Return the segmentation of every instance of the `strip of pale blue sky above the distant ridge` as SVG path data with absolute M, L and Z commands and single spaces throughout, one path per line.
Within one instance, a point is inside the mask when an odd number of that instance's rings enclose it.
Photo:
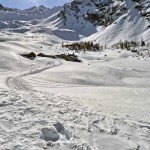
M 61 6 L 70 0 L 0 0 L 0 4 L 9 8 L 26 9 L 32 6 L 44 5 L 52 8 Z

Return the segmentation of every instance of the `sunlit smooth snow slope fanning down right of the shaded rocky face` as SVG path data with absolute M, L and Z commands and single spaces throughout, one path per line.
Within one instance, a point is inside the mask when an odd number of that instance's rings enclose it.
M 150 41 L 150 22 L 136 9 L 134 2 L 125 1 L 128 12 L 119 17 L 115 22 L 104 29 L 100 29 L 96 34 L 88 39 L 95 42 L 115 43 L 119 40 L 136 40 L 144 38 Z

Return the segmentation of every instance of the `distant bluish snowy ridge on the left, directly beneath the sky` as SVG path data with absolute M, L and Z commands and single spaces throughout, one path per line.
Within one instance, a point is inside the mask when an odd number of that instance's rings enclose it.
M 35 26 L 38 25 L 41 20 L 48 18 L 59 12 L 61 7 L 54 7 L 52 9 L 44 6 L 32 7 L 25 10 L 8 9 L 1 6 L 0 9 L 0 29 L 11 30 L 17 33 L 25 33 L 33 31 Z M 40 30 L 39 27 L 38 30 Z

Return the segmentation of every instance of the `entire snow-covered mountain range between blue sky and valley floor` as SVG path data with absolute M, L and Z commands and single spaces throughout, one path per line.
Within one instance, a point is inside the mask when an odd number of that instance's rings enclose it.
M 0 29 L 54 34 L 62 40 L 113 44 L 150 40 L 149 0 L 72 0 L 63 7 L 26 10 L 1 6 Z

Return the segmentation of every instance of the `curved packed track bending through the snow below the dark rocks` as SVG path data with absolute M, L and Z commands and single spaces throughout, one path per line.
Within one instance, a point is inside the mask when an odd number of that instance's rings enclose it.
M 10 89 L 23 90 L 23 91 L 32 90 L 31 86 L 23 79 L 23 77 L 28 75 L 34 75 L 60 65 L 62 65 L 61 61 L 50 61 L 49 63 L 47 63 L 45 67 L 38 68 L 35 70 L 30 70 L 16 77 L 7 77 L 5 84 Z

